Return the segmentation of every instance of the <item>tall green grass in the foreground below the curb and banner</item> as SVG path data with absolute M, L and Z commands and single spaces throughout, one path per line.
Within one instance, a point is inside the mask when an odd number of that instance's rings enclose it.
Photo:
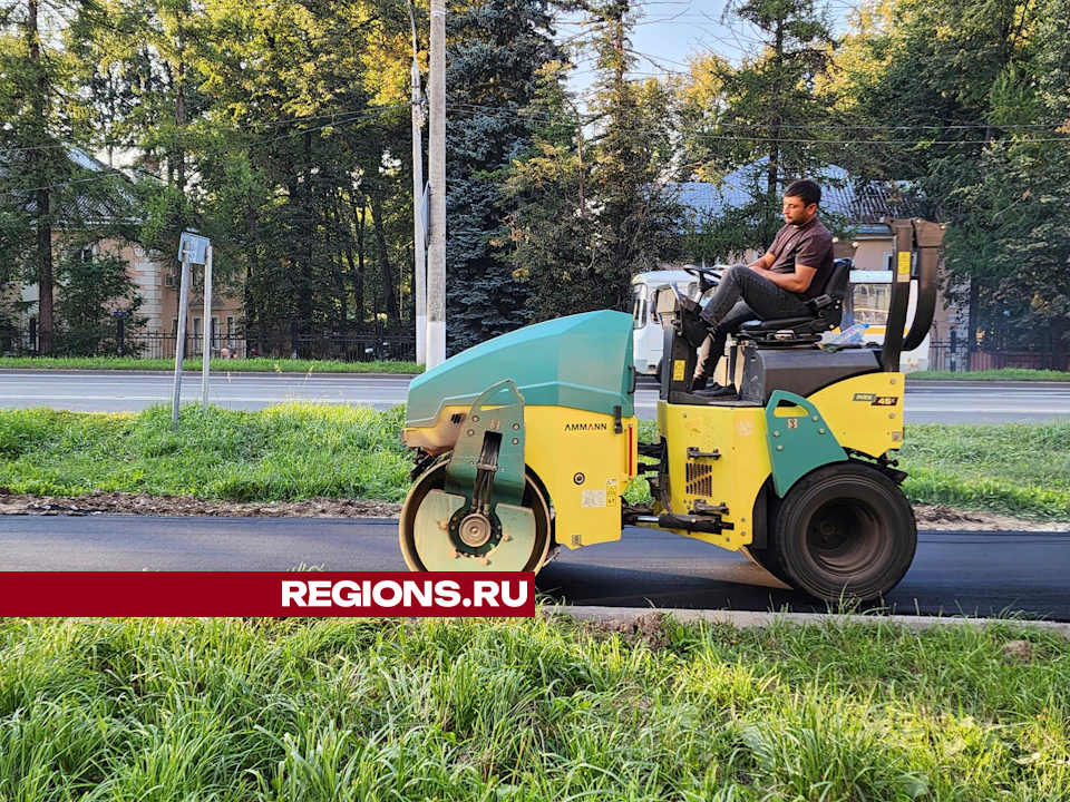
M 1056 635 L 642 628 L 0 619 L 0 800 L 1070 798 Z

